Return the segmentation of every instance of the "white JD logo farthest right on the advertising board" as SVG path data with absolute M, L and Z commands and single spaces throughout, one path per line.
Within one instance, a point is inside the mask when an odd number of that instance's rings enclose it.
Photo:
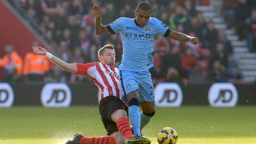
M 209 89 L 208 101 L 212 107 L 235 107 L 238 92 L 233 84 L 215 83 Z

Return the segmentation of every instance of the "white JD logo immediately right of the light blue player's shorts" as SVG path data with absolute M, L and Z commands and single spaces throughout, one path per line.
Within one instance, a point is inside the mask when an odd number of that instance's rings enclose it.
M 177 83 L 159 83 L 155 87 L 155 103 L 157 107 L 179 107 L 183 93 Z

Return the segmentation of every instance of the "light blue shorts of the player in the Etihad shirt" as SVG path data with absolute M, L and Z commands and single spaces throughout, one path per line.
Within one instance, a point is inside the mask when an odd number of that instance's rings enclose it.
M 126 95 L 138 90 L 140 102 L 155 101 L 154 86 L 150 72 L 132 72 L 119 70 L 119 83 L 122 87 L 122 100 L 127 102 Z

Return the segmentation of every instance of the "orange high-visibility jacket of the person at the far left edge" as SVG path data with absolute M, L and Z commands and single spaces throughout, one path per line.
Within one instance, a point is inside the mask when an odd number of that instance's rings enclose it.
M 23 60 L 18 55 L 18 53 L 16 51 L 13 51 L 11 56 L 4 55 L 3 59 L 0 60 L 0 67 L 6 67 L 6 66 L 10 66 L 10 65 L 15 65 L 15 67 L 17 69 L 17 74 L 18 75 L 22 74 L 22 64 L 23 64 Z

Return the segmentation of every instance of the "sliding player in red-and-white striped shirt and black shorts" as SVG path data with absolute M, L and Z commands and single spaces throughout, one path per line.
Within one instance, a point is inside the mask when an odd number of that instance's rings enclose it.
M 64 70 L 75 74 L 89 75 L 101 92 L 99 102 L 99 112 L 102 122 L 109 136 L 84 137 L 81 133 L 76 133 L 67 144 L 124 144 L 126 139 L 132 138 L 130 144 L 150 144 L 147 138 L 133 138 L 128 119 L 128 107 L 120 99 L 122 95 L 119 86 L 118 68 L 115 68 L 115 51 L 111 44 L 99 49 L 99 62 L 95 63 L 66 63 L 53 56 L 46 49 L 33 46 L 33 52 L 38 55 L 45 55 Z

